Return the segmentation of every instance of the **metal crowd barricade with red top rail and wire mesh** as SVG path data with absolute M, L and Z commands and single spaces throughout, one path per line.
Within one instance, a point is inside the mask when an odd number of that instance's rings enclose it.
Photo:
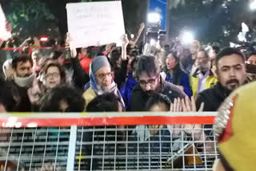
M 214 117 L 2 113 L 0 170 L 212 170 Z

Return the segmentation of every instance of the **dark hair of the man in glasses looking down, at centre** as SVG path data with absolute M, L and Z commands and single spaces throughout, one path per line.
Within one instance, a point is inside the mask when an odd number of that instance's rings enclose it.
M 142 56 L 138 59 L 136 75 L 139 76 L 142 72 L 146 72 L 149 76 L 160 74 L 160 66 L 154 56 Z

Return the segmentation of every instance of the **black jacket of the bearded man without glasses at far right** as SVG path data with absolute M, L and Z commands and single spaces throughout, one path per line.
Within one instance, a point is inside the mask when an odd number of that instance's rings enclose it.
M 200 108 L 202 102 L 205 103 L 203 111 L 215 112 L 218 110 L 222 102 L 230 95 L 230 92 L 218 82 L 210 89 L 205 89 L 198 94 L 196 99 L 197 109 Z

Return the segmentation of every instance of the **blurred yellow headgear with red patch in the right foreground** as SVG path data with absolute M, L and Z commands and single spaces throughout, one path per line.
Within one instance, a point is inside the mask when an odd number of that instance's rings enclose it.
M 218 110 L 214 132 L 220 159 L 214 171 L 254 170 L 256 121 L 256 83 L 242 86 L 230 94 Z

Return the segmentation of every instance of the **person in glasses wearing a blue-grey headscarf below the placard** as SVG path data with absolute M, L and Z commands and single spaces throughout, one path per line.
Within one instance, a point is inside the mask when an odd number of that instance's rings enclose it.
M 122 109 L 126 107 L 122 100 L 121 93 L 118 90 L 118 85 L 114 82 L 113 72 L 111 71 L 110 62 L 105 56 L 98 56 L 90 63 L 90 87 L 83 93 L 86 100 L 86 106 L 90 101 L 102 95 L 103 93 L 114 93 L 120 97 L 122 101 Z

